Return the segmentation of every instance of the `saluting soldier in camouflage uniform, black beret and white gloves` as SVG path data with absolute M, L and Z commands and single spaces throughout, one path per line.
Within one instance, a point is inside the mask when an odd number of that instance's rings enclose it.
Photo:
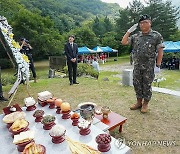
M 137 103 L 130 109 L 141 108 L 141 112 L 146 113 L 152 96 L 151 84 L 154 80 L 154 68 L 160 71 L 164 46 L 161 34 L 151 29 L 151 19 L 148 15 L 140 17 L 139 26 L 141 31 L 129 37 L 137 26 L 138 24 L 133 25 L 126 32 L 121 43 L 133 47 L 133 85 Z M 133 43 L 131 44 L 131 42 Z

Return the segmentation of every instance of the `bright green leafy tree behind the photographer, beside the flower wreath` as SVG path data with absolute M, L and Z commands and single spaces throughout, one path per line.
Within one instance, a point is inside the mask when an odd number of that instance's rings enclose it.
M 43 58 L 63 52 L 63 38 L 54 29 L 54 23 L 49 17 L 41 17 L 23 8 L 12 20 L 16 40 L 27 38 L 34 48 L 34 57 Z

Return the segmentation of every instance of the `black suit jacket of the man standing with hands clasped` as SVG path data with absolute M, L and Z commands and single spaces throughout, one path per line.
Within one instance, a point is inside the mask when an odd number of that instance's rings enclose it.
M 76 43 L 73 43 L 73 49 L 69 42 L 67 42 L 64 46 L 64 51 L 67 57 L 67 61 L 71 61 L 72 58 L 78 58 L 78 46 Z

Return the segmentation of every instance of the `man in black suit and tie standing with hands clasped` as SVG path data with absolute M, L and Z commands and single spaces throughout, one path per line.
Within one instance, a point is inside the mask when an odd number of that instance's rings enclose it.
M 67 57 L 70 85 L 79 84 L 76 81 L 78 46 L 74 43 L 74 39 L 74 35 L 69 36 L 69 41 L 64 46 L 64 51 Z

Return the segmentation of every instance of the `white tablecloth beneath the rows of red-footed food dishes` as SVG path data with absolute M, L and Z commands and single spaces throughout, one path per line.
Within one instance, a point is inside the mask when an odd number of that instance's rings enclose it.
M 23 108 L 25 109 L 25 108 Z M 91 125 L 91 133 L 86 136 L 81 136 L 79 134 L 79 129 L 76 126 L 72 126 L 71 119 L 64 120 L 61 118 L 61 114 L 56 114 L 56 109 L 49 109 L 48 106 L 41 107 L 37 105 L 37 109 L 42 109 L 45 111 L 45 115 L 51 114 L 56 116 L 56 124 L 61 124 L 66 128 L 66 135 L 73 140 L 88 144 L 89 146 L 97 149 L 97 143 L 95 142 L 95 138 L 98 134 L 104 133 L 102 130 L 97 128 L 95 125 Z M 42 144 L 46 147 L 46 154 L 71 154 L 71 151 L 68 147 L 67 141 L 64 141 L 60 144 L 54 144 L 51 141 L 51 137 L 49 136 L 49 130 L 44 130 L 43 125 L 41 123 L 36 123 L 35 118 L 32 116 L 34 111 L 25 111 L 26 119 L 29 121 L 30 130 L 34 130 L 35 132 L 35 142 L 37 144 Z M 17 146 L 14 145 L 13 138 L 11 137 L 11 133 L 8 131 L 6 124 L 2 122 L 2 118 L 4 115 L 0 115 L 0 154 L 19 154 L 17 150 Z M 107 154 L 129 154 L 130 148 L 125 146 L 121 149 L 118 149 L 114 144 L 115 138 L 112 137 L 111 149 L 106 152 Z

